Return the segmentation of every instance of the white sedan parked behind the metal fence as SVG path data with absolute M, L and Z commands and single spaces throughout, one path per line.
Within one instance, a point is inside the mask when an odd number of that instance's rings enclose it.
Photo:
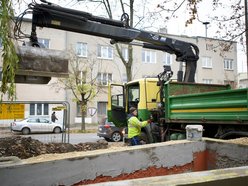
M 45 118 L 26 118 L 14 121 L 10 127 L 12 131 L 22 132 L 24 135 L 43 132 L 61 133 L 63 130 L 62 124 L 51 122 Z

